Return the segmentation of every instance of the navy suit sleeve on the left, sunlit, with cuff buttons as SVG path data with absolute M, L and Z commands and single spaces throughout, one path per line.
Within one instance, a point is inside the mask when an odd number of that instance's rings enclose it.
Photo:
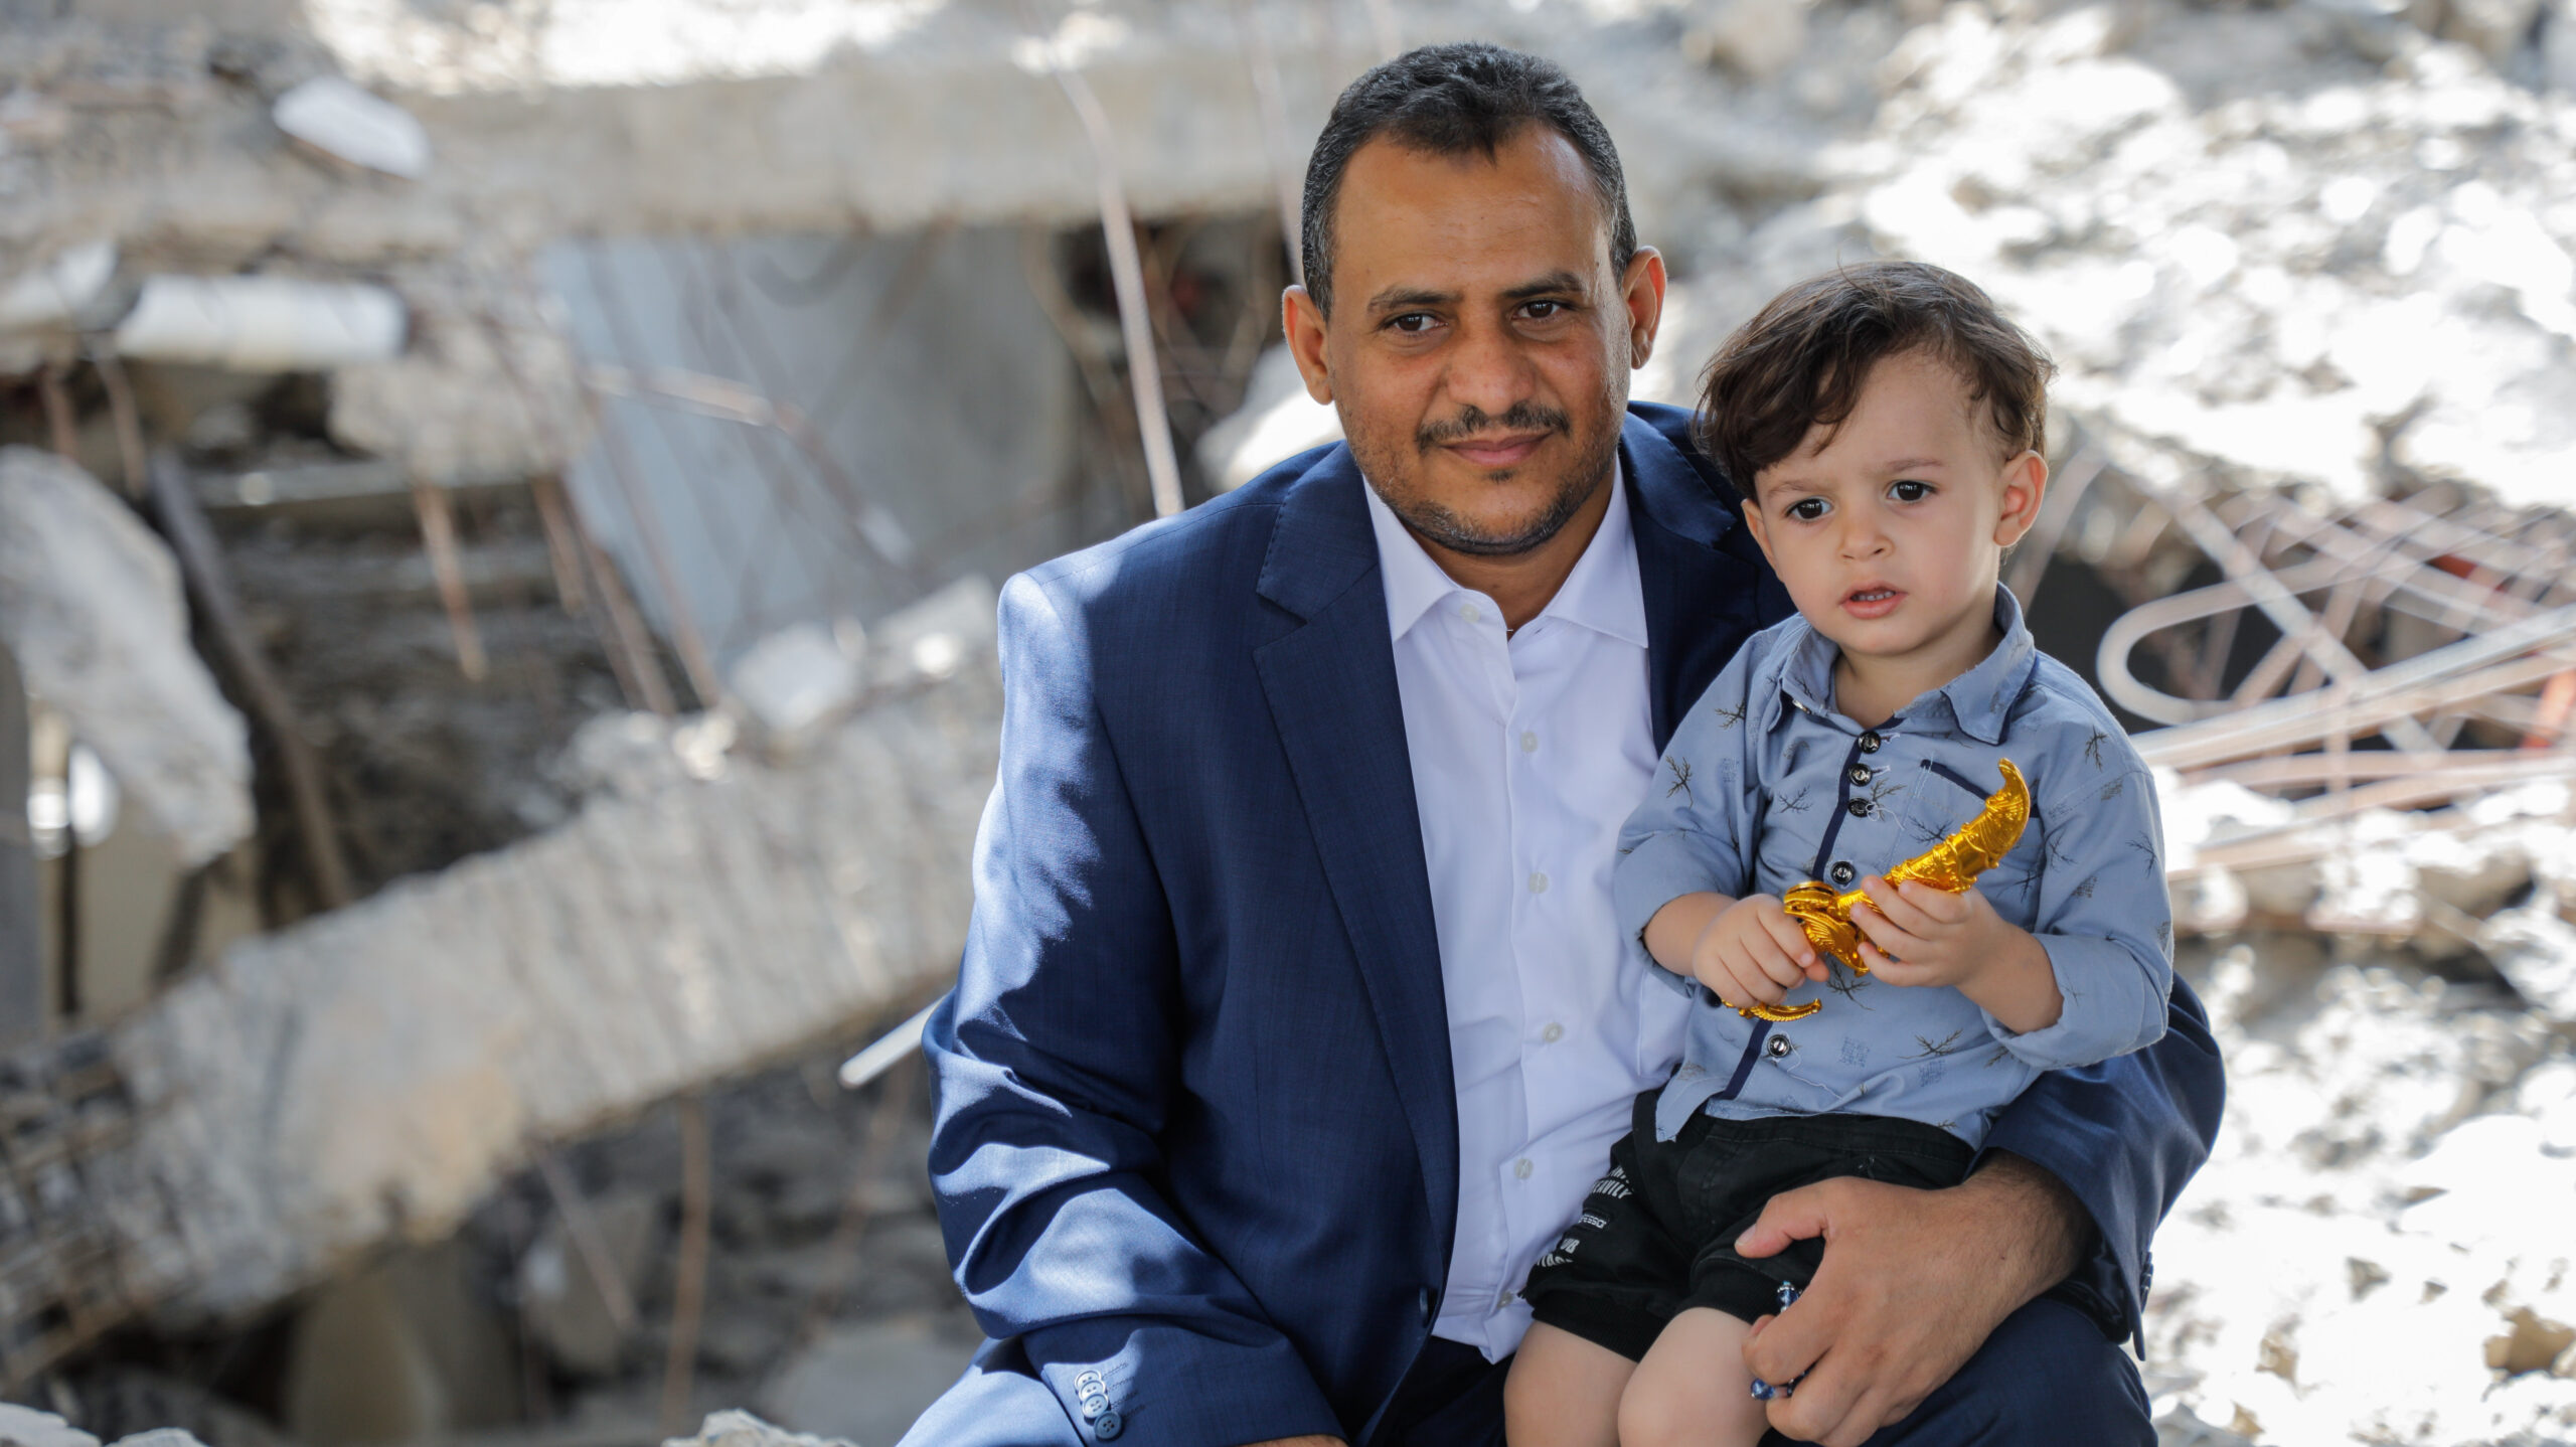
M 1180 1069 L 1177 945 L 1079 621 L 1012 579 L 999 657 L 974 919 L 922 1035 L 958 1287 L 1084 1442 L 1342 1434 L 1291 1341 L 1154 1187 Z

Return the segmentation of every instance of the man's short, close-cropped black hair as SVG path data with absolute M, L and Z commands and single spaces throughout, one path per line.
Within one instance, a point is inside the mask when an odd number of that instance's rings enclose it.
M 1352 80 L 1332 103 L 1332 118 L 1306 162 L 1306 294 L 1316 312 L 1332 314 L 1332 206 L 1342 196 L 1342 173 L 1363 144 L 1388 136 L 1409 149 L 1455 157 L 1481 152 L 1486 160 L 1528 124 L 1543 124 L 1592 170 L 1602 216 L 1610 221 L 1610 270 L 1628 275 L 1636 257 L 1636 221 L 1628 219 L 1628 180 L 1618 170 L 1618 147 L 1592 113 L 1584 93 L 1556 62 L 1507 51 L 1484 41 L 1419 46 Z

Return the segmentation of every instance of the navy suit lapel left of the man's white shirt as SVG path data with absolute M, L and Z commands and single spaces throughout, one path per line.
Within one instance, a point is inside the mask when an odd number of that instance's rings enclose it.
M 1260 592 L 1303 626 L 1255 649 L 1324 881 L 1360 960 L 1432 1208 L 1435 1269 L 1458 1218 L 1458 1092 L 1386 587 L 1347 448 L 1280 505 Z

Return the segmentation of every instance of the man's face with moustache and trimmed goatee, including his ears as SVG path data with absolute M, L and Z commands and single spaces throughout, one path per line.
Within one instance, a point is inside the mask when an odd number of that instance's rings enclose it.
M 1664 268 L 1610 273 L 1592 173 L 1548 126 L 1494 157 L 1381 136 L 1342 173 L 1332 296 L 1324 319 L 1293 288 L 1288 340 L 1378 497 L 1443 548 L 1515 556 L 1607 481 Z

